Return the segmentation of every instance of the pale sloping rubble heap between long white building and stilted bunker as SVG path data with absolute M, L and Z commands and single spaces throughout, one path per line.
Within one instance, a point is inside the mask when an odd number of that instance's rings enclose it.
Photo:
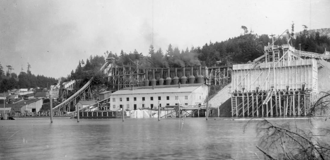
M 222 103 L 224 103 L 227 99 L 231 97 L 229 92 L 232 92 L 231 83 L 223 87 L 218 93 L 215 94 L 214 97 L 209 99 L 210 107 L 219 107 Z

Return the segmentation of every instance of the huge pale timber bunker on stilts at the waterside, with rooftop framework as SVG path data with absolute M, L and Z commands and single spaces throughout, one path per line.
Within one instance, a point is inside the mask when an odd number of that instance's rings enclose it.
M 318 94 L 317 59 L 330 55 L 273 43 L 252 63 L 233 65 L 232 116 L 309 115 Z

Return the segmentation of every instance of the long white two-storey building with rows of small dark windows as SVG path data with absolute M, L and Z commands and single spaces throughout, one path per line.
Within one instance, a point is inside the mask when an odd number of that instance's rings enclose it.
M 203 105 L 208 92 L 209 88 L 204 83 L 124 88 L 110 94 L 110 110 Z

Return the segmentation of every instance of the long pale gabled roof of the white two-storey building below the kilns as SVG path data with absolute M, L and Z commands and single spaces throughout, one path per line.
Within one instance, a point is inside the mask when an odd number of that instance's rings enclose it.
M 206 84 L 204 83 L 181 84 L 180 88 L 179 85 L 156 85 L 154 86 L 154 89 L 152 89 L 152 86 L 142 86 L 142 87 L 133 87 L 133 90 L 131 90 L 130 87 L 127 87 L 118 90 L 112 93 L 111 95 L 192 92 L 202 85 L 206 85 Z

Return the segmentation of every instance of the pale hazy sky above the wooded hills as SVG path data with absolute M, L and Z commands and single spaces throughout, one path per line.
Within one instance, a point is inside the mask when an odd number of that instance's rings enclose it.
M 0 64 L 60 78 L 104 52 L 180 50 L 243 33 L 330 28 L 329 0 L 2 0 Z

